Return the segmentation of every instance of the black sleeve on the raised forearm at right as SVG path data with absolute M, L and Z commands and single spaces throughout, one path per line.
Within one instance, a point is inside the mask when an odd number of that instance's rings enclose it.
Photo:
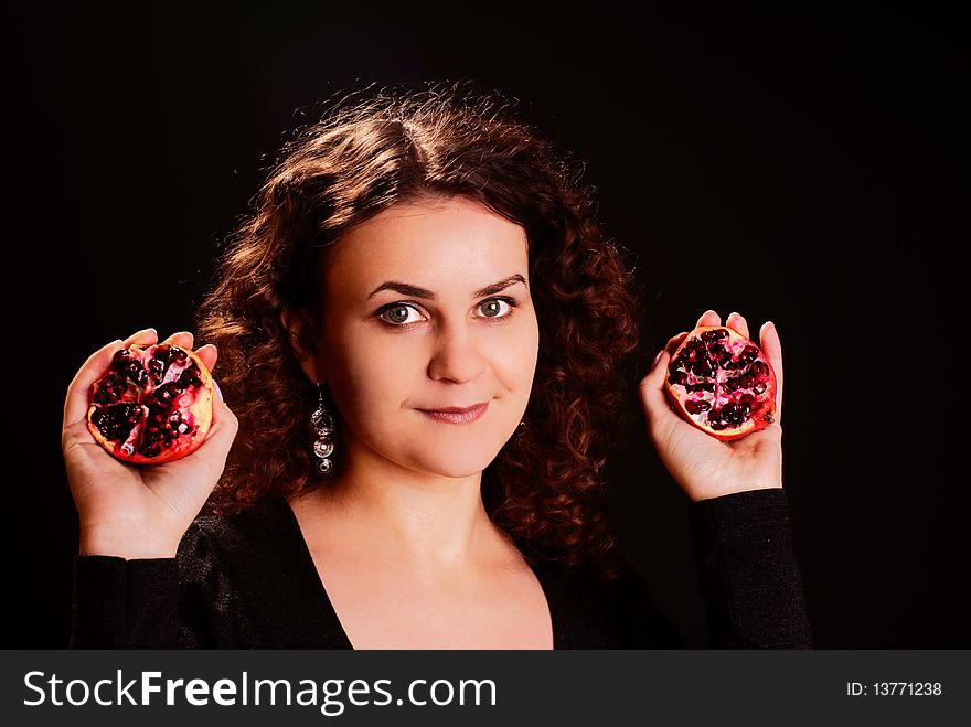
M 689 505 L 713 649 L 812 649 L 782 489 Z

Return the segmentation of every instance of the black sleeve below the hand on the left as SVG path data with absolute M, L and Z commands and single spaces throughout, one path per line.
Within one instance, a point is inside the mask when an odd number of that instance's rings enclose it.
M 232 645 L 227 585 L 193 525 L 174 558 L 74 558 L 71 649 Z

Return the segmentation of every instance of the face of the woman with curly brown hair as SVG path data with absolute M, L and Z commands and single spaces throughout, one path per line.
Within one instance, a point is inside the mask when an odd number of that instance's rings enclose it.
M 536 370 L 527 272 L 524 229 L 463 197 L 393 206 L 332 248 L 312 363 L 349 461 L 467 477 L 495 458 Z

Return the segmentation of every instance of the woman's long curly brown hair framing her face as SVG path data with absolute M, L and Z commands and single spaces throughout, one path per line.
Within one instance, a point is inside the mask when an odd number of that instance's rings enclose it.
M 515 107 L 469 83 L 366 89 L 282 147 L 199 313 L 239 420 L 211 512 L 326 487 L 307 426 L 316 389 L 280 314 L 312 309 L 318 265 L 354 225 L 395 203 L 461 195 L 525 229 L 540 323 L 527 426 L 483 474 L 487 511 L 527 558 L 617 570 L 601 469 L 629 392 L 639 296 L 595 220 L 583 164 Z

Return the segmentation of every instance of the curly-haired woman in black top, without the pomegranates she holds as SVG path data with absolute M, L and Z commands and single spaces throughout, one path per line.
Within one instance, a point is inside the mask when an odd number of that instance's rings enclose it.
M 92 383 L 153 330 L 82 366 L 63 437 L 73 645 L 680 644 L 613 547 L 600 478 L 637 296 L 575 169 L 509 110 L 387 92 L 284 149 L 201 310 L 232 411 L 214 405 L 191 456 L 134 468 L 85 426 Z M 682 421 L 662 382 L 683 336 L 639 395 L 695 503 L 712 643 L 809 646 L 781 429 L 723 443 Z

